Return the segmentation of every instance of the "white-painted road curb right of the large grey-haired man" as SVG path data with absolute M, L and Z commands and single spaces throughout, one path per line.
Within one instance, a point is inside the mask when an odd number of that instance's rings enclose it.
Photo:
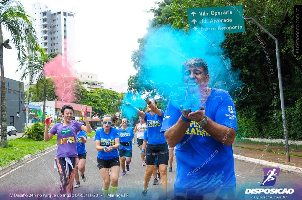
M 249 157 L 235 155 L 235 154 L 234 154 L 234 158 L 241 160 L 241 161 L 262 164 L 262 165 L 269 166 L 269 167 L 278 167 L 279 169 L 282 169 L 282 170 L 287 170 L 287 171 L 296 172 L 296 173 L 302 173 L 301 167 L 294 167 L 294 166 L 289 166 L 289 165 L 285 165 L 285 164 L 278 164 L 278 163 L 274 163 L 274 162 L 270 162 L 270 161 L 263 161 L 260 159 L 249 158 Z

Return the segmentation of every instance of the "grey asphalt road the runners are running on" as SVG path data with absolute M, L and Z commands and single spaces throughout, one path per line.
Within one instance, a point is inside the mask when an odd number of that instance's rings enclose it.
M 87 161 L 85 175 L 86 182 L 82 181 L 79 188 L 74 188 L 73 194 L 101 194 L 103 180 L 98 170 L 97 164 L 97 151 L 95 149 L 95 142 L 93 138 L 88 139 L 86 145 Z M 261 152 L 260 152 L 261 153 Z M 27 194 L 32 193 L 35 195 L 47 194 L 57 195 L 59 193 L 60 179 L 59 174 L 54 166 L 54 158 L 56 155 L 56 148 L 50 149 L 34 157 L 28 158 L 18 164 L 14 164 L 4 170 L 0 171 L 0 199 L 15 199 L 9 198 L 9 194 Z M 45 164 L 43 164 L 45 162 Z M 265 166 L 258 165 L 255 172 L 250 174 L 255 164 L 234 160 L 235 174 L 237 182 L 237 191 L 245 191 L 246 188 L 259 188 L 264 174 L 262 168 Z M 175 159 L 173 161 L 173 171 L 167 172 L 168 174 L 168 198 L 173 197 L 173 184 L 175 180 Z M 132 161 L 130 163 L 130 171 L 126 171 L 126 176 L 122 176 L 122 169 L 120 168 L 119 187 L 117 194 L 128 194 L 131 199 L 140 199 L 143 190 L 143 176 L 145 167 L 142 166 L 140 158 L 140 150 L 137 143 L 133 146 Z M 153 177 L 151 177 L 153 180 Z M 75 184 L 75 182 L 74 182 Z M 281 170 L 280 176 L 277 179 L 275 188 L 301 188 L 302 175 L 291 173 Z M 242 193 L 242 192 L 241 192 Z M 301 192 L 300 192 L 301 193 Z M 149 184 L 148 199 L 156 199 L 162 195 L 161 185 Z M 126 199 L 129 199 L 126 198 Z M 23 199 L 23 198 L 19 198 Z M 31 198 L 28 198 L 31 199 Z M 34 199 L 50 199 L 50 198 L 37 198 Z M 83 199 L 82 197 L 77 199 Z M 99 198 L 89 198 L 99 199 Z M 121 198 L 122 199 L 122 198 Z M 242 198 L 243 199 L 243 198 Z

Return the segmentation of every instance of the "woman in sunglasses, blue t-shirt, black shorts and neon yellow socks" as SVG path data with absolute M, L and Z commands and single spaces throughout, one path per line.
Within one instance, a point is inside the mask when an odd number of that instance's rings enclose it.
M 111 195 L 114 195 L 118 187 L 118 177 L 120 173 L 120 156 L 118 148 L 120 147 L 120 136 L 117 129 L 111 127 L 112 123 L 117 123 L 118 116 L 106 114 L 102 118 L 103 128 L 95 132 L 95 146 L 98 151 L 98 169 L 103 178 L 103 194 L 108 199 L 110 192 L 110 174 L 111 172 Z

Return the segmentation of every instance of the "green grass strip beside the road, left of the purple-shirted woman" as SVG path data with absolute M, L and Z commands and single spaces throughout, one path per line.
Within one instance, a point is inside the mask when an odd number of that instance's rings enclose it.
M 57 144 L 57 137 L 54 135 L 48 142 L 34 141 L 28 138 L 17 138 L 8 140 L 6 148 L 0 147 L 0 167 L 10 164 L 14 160 L 21 160 L 28 154 L 35 154 L 47 147 Z

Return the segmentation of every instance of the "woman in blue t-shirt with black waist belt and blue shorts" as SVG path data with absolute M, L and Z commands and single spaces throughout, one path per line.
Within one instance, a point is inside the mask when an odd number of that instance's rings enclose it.
M 118 149 L 118 152 L 120 153 L 120 163 L 123 170 L 122 175 L 126 175 L 125 164 L 127 171 L 129 171 L 129 164 L 132 157 L 132 145 L 134 145 L 135 141 L 133 129 L 128 126 L 126 118 L 122 119 L 122 127 L 118 130 L 118 133 L 120 134 L 120 148 Z

